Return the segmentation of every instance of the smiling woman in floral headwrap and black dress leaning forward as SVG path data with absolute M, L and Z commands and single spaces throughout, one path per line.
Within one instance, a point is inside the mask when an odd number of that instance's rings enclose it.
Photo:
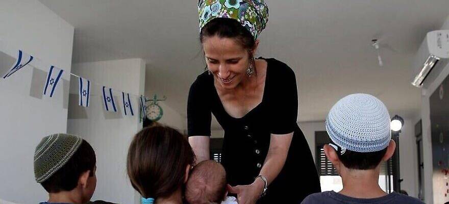
M 239 204 L 299 203 L 319 192 L 312 155 L 296 123 L 294 72 L 278 60 L 253 57 L 267 6 L 262 0 L 200 0 L 198 10 L 208 70 L 192 84 L 187 107 L 197 162 L 209 159 L 213 113 L 224 129 L 221 161 Z

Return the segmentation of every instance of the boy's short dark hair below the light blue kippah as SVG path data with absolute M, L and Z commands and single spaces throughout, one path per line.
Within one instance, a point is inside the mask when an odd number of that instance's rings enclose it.
M 343 155 L 338 154 L 338 159 L 348 169 L 368 170 L 376 168 L 385 156 L 387 148 L 373 152 L 357 152 L 347 150 Z

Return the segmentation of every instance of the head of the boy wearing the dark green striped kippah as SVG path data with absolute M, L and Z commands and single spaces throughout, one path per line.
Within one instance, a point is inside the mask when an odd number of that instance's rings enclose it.
M 48 192 L 40 204 L 85 204 L 96 187 L 96 159 L 90 144 L 74 135 L 44 137 L 34 154 L 36 182 Z

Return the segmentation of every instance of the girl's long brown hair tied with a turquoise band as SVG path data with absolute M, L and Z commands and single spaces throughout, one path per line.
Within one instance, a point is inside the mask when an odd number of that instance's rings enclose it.
M 178 131 L 145 127 L 131 142 L 127 172 L 143 197 L 168 197 L 183 185 L 187 165 L 193 165 L 194 159 L 187 138 Z

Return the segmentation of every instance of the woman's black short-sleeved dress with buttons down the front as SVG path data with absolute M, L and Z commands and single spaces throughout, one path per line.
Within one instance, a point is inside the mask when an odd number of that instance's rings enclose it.
M 224 130 L 221 164 L 229 184 L 247 185 L 262 168 L 270 134 L 294 132 L 282 171 L 257 203 L 300 203 L 320 192 L 319 177 L 303 132 L 296 123 L 298 97 L 293 70 L 276 59 L 267 61 L 262 102 L 242 118 L 230 116 L 221 104 L 214 77 L 202 73 L 190 87 L 187 117 L 189 136 L 211 134 L 211 113 Z

